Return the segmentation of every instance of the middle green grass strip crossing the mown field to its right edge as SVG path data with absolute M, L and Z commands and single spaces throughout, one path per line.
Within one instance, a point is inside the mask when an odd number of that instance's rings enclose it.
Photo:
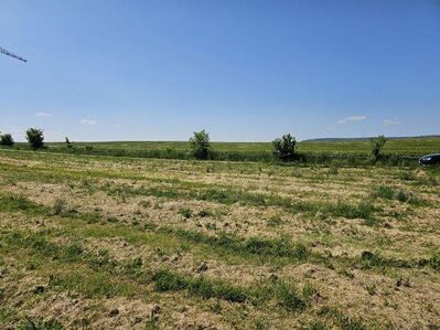
M 198 246 L 201 251 L 207 251 L 216 254 L 217 257 L 224 255 L 235 255 L 240 258 L 240 263 L 253 260 L 257 264 L 286 265 L 291 263 L 315 263 L 334 268 L 339 267 L 357 267 L 363 269 L 376 268 L 380 270 L 386 267 L 396 268 L 420 268 L 431 267 L 440 270 L 440 255 L 433 255 L 431 258 L 420 258 L 416 260 L 404 260 L 395 258 L 386 258 L 368 251 L 363 252 L 359 257 L 335 257 L 325 254 L 318 254 L 302 243 L 294 243 L 286 237 L 280 238 L 261 238 L 261 237 L 238 237 L 233 234 L 222 234 L 213 236 L 196 231 L 187 231 L 173 228 L 169 226 L 158 227 L 155 224 L 149 223 L 143 226 L 127 226 L 125 224 L 114 223 L 112 220 L 100 215 L 97 212 L 72 212 L 61 211 L 55 205 L 49 207 L 35 204 L 23 196 L 1 195 L 0 194 L 0 212 L 23 212 L 24 214 L 35 216 L 58 216 L 64 219 L 61 222 L 64 226 L 68 226 L 69 233 L 76 233 L 78 237 L 124 237 L 132 244 L 154 244 L 161 248 L 170 246 Z M 83 226 L 77 226 L 75 222 L 66 222 L 65 220 L 81 220 Z M 105 230 L 100 230 L 100 225 L 105 224 Z

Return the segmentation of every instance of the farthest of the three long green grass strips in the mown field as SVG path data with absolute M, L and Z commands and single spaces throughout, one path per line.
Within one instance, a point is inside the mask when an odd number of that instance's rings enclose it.
M 371 200 L 364 200 L 358 203 L 347 203 L 344 201 L 326 202 L 326 201 L 303 201 L 293 200 L 291 198 L 280 196 L 278 194 L 254 193 L 248 190 L 237 189 L 234 185 L 227 184 L 208 184 L 195 181 L 182 181 L 179 179 L 167 178 L 144 178 L 140 175 L 121 175 L 120 173 L 107 173 L 105 171 L 68 171 L 66 169 L 45 169 L 45 168 L 28 168 L 1 166 L 7 175 L 11 179 L 20 178 L 21 180 L 36 180 L 50 183 L 56 183 L 66 180 L 83 180 L 85 185 L 88 185 L 86 178 L 124 178 L 137 181 L 149 181 L 155 183 L 153 187 L 131 187 L 129 184 L 106 184 L 99 185 L 96 189 L 106 191 L 110 195 L 152 195 L 157 198 L 167 198 L 174 200 L 200 200 L 211 201 L 222 204 L 240 203 L 250 206 L 277 206 L 290 213 L 309 213 L 311 215 L 318 212 L 331 215 L 342 216 L 347 219 L 364 219 L 369 224 L 374 224 L 376 219 L 375 213 L 380 209 L 376 207 Z M 431 177 L 429 177 L 431 178 Z M 139 180 L 140 179 L 140 180 Z M 436 181 L 432 181 L 436 182 Z M 163 183 L 163 185 L 160 185 Z M 170 184 L 172 187 L 170 187 Z M 90 188 L 92 189 L 92 188 Z M 375 194 L 372 194 L 375 198 Z M 419 198 L 410 198 L 404 190 L 400 190 L 400 198 L 403 201 L 409 201 L 412 204 L 422 204 L 423 201 Z

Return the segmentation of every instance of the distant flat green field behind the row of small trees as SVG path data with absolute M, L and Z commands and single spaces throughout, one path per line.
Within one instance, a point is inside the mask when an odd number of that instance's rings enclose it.
M 139 158 L 186 159 L 190 146 L 184 141 L 115 141 L 115 142 L 74 142 L 67 149 L 64 142 L 50 142 L 46 151 L 69 152 L 76 155 L 126 156 Z M 272 160 L 270 142 L 212 142 L 213 160 Z M 26 143 L 17 143 L 17 148 L 26 149 Z M 316 161 L 316 157 L 363 157 L 371 153 L 369 140 L 346 141 L 304 141 L 298 142 L 298 152 L 308 156 L 308 161 Z M 390 139 L 385 145 L 384 155 L 388 157 L 420 157 L 440 152 L 440 137 Z

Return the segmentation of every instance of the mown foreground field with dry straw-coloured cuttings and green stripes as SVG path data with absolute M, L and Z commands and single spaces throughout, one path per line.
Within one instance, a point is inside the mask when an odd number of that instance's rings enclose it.
M 0 328 L 438 329 L 439 187 L 0 150 Z

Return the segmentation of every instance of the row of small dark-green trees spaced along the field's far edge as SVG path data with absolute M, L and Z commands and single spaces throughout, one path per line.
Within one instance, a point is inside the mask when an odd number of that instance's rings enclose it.
M 44 148 L 44 134 L 42 129 L 29 128 L 25 131 L 25 138 L 31 149 L 39 150 Z M 372 139 L 371 157 L 377 161 L 380 159 L 380 152 L 387 141 L 383 135 L 376 139 Z M 65 138 L 65 143 L 68 149 L 73 148 L 69 139 Z M 0 146 L 12 147 L 14 140 L 10 134 L 0 135 Z M 297 152 L 297 140 L 290 134 L 286 134 L 272 141 L 273 157 L 282 162 L 294 161 L 299 159 Z M 194 131 L 190 138 L 190 152 L 195 159 L 206 160 L 213 152 L 210 134 L 206 130 Z

